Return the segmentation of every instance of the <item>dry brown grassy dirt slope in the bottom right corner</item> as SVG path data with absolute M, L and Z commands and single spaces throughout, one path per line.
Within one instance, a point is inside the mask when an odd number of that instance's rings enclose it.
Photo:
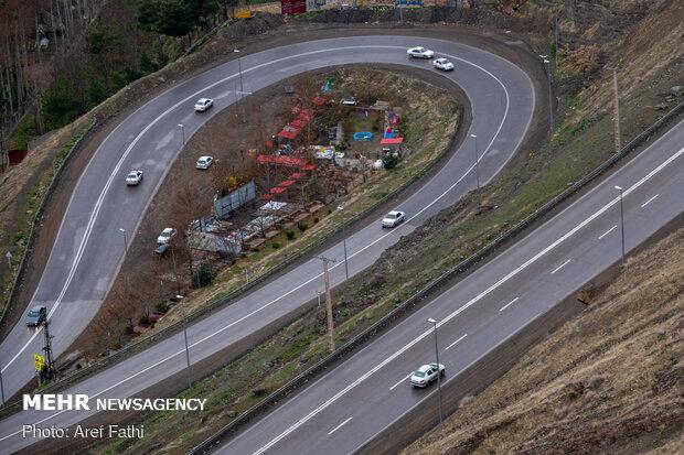
M 684 229 L 404 454 L 681 453 Z

